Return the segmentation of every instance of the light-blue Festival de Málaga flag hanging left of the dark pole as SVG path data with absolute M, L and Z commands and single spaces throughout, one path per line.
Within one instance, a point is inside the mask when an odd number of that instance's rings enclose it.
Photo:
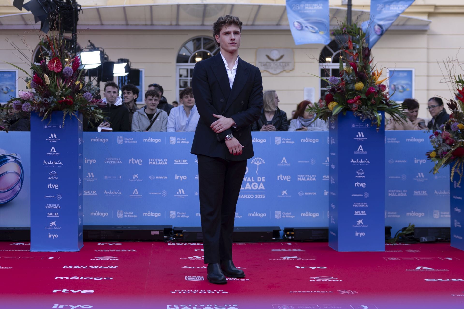
M 287 0 L 287 17 L 296 45 L 329 44 L 329 0 Z

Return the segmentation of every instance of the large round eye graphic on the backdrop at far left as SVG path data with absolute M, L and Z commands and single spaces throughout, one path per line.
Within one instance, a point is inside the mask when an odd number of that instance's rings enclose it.
M 21 157 L 0 149 L 0 204 L 13 200 L 21 190 L 24 181 L 24 169 Z

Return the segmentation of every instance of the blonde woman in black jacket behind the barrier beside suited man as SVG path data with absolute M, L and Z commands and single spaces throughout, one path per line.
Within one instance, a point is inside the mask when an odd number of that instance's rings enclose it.
M 276 90 L 264 91 L 263 110 L 258 121 L 251 125 L 251 131 L 287 131 L 287 114 L 277 107 L 278 104 Z

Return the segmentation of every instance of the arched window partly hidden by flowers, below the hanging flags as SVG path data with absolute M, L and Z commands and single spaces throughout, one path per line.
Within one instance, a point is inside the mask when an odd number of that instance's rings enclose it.
M 321 55 L 319 56 L 319 69 L 321 77 L 328 79 L 330 76 L 340 76 L 340 44 L 335 40 L 325 45 L 322 48 Z M 327 82 L 320 80 L 320 97 L 324 97 L 327 89 Z M 317 100 L 318 98 L 316 98 Z

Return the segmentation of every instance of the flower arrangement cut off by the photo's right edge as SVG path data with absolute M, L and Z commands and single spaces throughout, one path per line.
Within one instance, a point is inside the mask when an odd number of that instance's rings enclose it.
M 440 126 L 441 132 L 435 131 L 430 136 L 433 151 L 428 151 L 425 155 L 435 163 L 431 170 L 433 174 L 437 174 L 440 168 L 452 164 L 451 181 L 453 181 L 454 173 L 457 173 L 459 185 L 464 168 L 464 76 L 456 77 L 452 75 L 450 66 L 447 66 L 447 69 L 449 77 L 446 79 L 454 85 L 453 88 L 457 91 L 454 94 L 457 101 L 450 100 L 447 103 L 452 111 L 450 119 Z

